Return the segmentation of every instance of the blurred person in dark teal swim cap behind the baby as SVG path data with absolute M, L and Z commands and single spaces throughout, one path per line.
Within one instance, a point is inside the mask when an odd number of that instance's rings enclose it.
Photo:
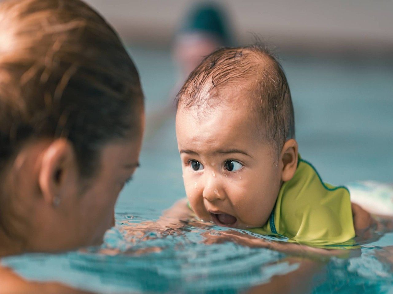
M 201 2 L 191 7 L 173 40 L 173 59 L 178 68 L 178 81 L 165 106 L 148 120 L 148 138 L 151 138 L 168 118 L 174 117 L 174 98 L 191 71 L 215 49 L 234 43 L 228 16 L 219 4 Z

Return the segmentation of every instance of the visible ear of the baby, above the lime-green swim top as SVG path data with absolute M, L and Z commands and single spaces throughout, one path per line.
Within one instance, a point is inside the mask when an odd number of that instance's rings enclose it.
M 281 180 L 284 182 L 289 181 L 298 167 L 298 142 L 295 139 L 289 139 L 285 142 L 281 150 L 280 160 L 283 163 Z

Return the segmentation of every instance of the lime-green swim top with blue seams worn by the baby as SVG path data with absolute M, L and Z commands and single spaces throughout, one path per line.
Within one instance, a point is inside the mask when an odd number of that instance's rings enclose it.
M 356 245 L 348 189 L 323 183 L 300 155 L 294 177 L 283 183 L 268 222 L 250 231 L 313 246 Z

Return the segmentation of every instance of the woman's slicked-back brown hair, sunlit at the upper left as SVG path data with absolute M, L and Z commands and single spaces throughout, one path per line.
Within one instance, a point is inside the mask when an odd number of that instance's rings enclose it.
M 101 147 L 132 133 L 142 107 L 132 60 L 88 5 L 0 5 L 0 172 L 28 140 L 64 137 L 90 176 Z

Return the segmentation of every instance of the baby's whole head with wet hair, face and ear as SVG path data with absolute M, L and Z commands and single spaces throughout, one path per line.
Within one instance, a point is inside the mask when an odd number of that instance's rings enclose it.
M 217 225 L 262 227 L 298 163 L 281 65 L 261 45 L 207 56 L 178 94 L 176 136 L 195 214 Z

